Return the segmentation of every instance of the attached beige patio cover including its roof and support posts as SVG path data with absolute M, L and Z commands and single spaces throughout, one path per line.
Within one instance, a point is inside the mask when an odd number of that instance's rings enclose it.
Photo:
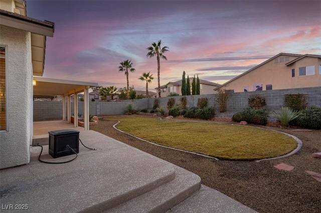
M 66 120 L 65 114 L 65 97 L 68 97 L 68 111 L 67 120 L 70 123 L 71 107 L 70 96 L 84 92 L 84 128 L 89 130 L 89 88 L 98 86 L 98 83 L 83 82 L 75 80 L 64 80 L 47 78 L 40 76 L 33 76 L 36 80 L 36 85 L 33 86 L 33 95 L 62 95 L 63 96 L 63 120 Z M 75 99 L 75 98 L 74 98 Z M 78 101 L 74 101 L 74 124 L 78 126 Z

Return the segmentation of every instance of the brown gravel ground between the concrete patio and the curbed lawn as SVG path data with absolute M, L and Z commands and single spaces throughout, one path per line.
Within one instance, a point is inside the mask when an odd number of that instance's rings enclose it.
M 90 129 L 190 170 L 202 178 L 202 184 L 259 212 L 321 212 L 321 182 L 305 172 L 321 173 L 321 159 L 311 157 L 311 153 L 321 151 L 321 130 L 293 131 L 262 126 L 300 138 L 301 150 L 286 158 L 261 162 L 217 161 L 150 144 L 114 129 L 112 126 L 117 121 L 105 119 L 99 119 L 98 125 Z M 285 171 L 273 167 L 282 162 L 294 169 Z

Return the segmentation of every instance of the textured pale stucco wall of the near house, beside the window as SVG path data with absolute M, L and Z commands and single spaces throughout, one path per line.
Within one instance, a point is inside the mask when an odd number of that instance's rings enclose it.
M 0 168 L 29 163 L 32 139 L 32 62 L 30 32 L 0 25 L 8 54 L 8 131 L 0 132 Z

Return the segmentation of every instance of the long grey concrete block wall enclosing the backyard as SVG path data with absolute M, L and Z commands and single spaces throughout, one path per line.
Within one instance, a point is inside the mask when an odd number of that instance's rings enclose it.
M 284 94 L 308 94 L 308 106 L 321 107 L 321 86 L 309 88 L 295 88 L 295 89 L 279 89 L 269 91 L 251 91 L 251 92 L 235 92 L 229 99 L 227 111 L 236 112 L 245 107 L 248 107 L 248 98 L 251 95 L 262 95 L 266 98 L 267 110 L 279 109 L 284 104 Z M 172 96 L 176 103 L 180 103 L 182 96 Z M 158 98 L 159 105 L 167 108 L 167 102 L 172 97 Z M 203 94 L 203 95 L 188 95 L 187 107 L 197 106 L 198 98 L 207 97 L 208 106 L 215 106 L 218 111 L 217 94 Z M 134 100 L 121 101 L 90 101 L 89 114 L 103 116 L 103 115 L 117 115 L 124 114 L 126 107 L 132 103 L 134 107 L 140 111 L 143 108 L 151 109 L 153 107 L 155 98 L 142 98 Z M 71 104 L 73 111 L 73 104 Z M 83 113 L 83 102 L 78 102 L 78 113 Z M 34 101 L 34 120 L 46 119 L 60 119 L 62 118 L 62 102 L 59 101 Z

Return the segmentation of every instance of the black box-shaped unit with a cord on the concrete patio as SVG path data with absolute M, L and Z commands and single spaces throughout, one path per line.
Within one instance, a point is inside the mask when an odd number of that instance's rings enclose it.
M 79 153 L 79 131 L 62 129 L 49 131 L 49 154 L 54 158 Z M 73 150 L 71 150 L 69 145 Z

